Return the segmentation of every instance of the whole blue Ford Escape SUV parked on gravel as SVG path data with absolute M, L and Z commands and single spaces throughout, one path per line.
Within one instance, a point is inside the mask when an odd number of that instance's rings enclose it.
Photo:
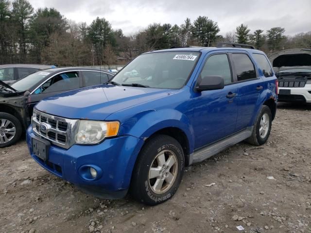
M 265 143 L 276 93 L 262 51 L 151 51 L 104 85 L 40 101 L 26 140 L 39 165 L 86 192 L 155 205 L 173 197 L 185 166 Z

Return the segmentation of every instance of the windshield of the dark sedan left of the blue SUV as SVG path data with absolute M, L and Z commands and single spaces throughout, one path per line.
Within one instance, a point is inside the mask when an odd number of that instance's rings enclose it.
M 50 73 L 52 73 L 52 71 L 38 71 L 16 81 L 11 86 L 19 92 L 26 91 L 33 87 L 35 83 L 43 80 Z

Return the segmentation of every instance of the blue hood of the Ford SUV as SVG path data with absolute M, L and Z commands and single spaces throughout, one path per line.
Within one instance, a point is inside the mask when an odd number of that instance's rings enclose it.
M 122 109 L 155 100 L 177 90 L 99 85 L 41 100 L 35 108 L 70 119 L 104 120 Z

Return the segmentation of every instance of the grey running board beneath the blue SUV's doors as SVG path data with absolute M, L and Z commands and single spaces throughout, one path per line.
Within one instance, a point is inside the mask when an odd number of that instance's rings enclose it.
M 193 153 L 193 161 L 192 163 L 199 163 L 203 160 L 221 152 L 222 150 L 225 150 L 228 147 L 231 147 L 246 138 L 250 137 L 253 132 L 253 126 L 247 127 L 245 130 L 240 131 L 239 133 L 235 133 L 229 137 L 226 137 L 225 139 L 216 142 L 210 146 L 207 146 L 201 150 L 195 151 Z

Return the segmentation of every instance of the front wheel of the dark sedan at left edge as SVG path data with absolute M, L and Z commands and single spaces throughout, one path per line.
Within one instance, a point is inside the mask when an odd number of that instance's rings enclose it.
M 14 133 L 15 129 L 15 134 Z M 0 148 L 12 146 L 20 138 L 22 127 L 20 121 L 8 113 L 0 113 Z

